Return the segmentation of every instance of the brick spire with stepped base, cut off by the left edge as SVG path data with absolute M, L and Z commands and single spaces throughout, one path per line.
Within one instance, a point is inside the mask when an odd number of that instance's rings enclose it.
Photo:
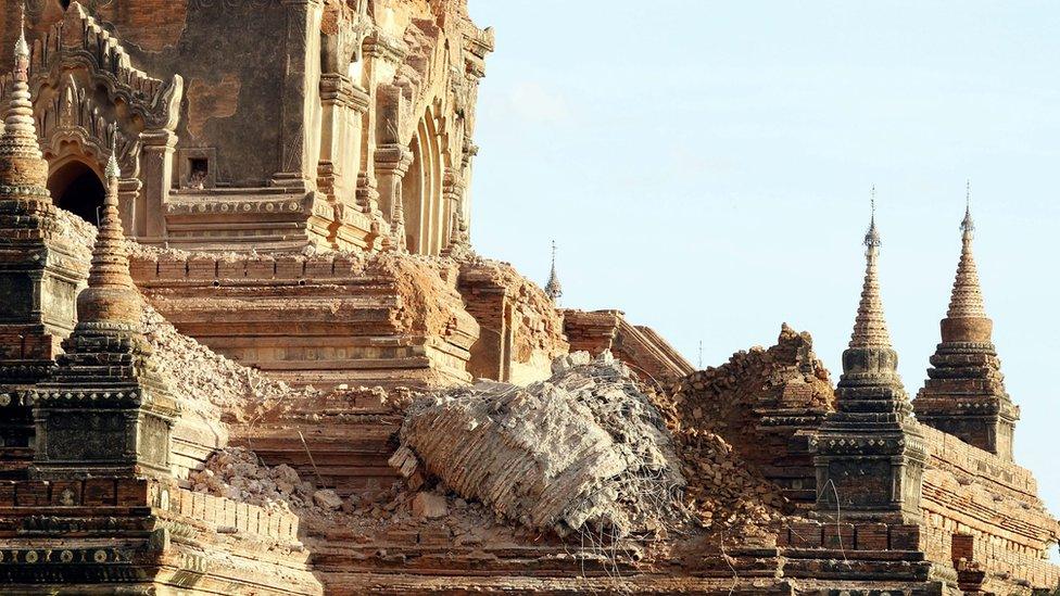
M 48 377 L 73 330 L 74 299 L 88 269 L 86 251 L 70 242 L 75 230 L 60 220 L 48 193 L 48 163 L 29 101 L 29 58 L 23 33 L 0 135 L 0 477 L 24 473 L 31 457 L 26 391 Z

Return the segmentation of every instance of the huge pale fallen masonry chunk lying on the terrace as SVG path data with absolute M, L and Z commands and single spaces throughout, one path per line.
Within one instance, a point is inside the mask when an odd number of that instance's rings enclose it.
M 685 482 L 658 410 L 609 353 L 556 360 L 544 382 L 420 397 L 391 459 L 527 528 L 623 538 L 665 532 Z

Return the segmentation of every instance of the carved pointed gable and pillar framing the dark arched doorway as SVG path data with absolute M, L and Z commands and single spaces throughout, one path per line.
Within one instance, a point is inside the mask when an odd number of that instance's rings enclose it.
M 184 79 L 153 78 L 132 66 L 119 40 L 81 4 L 71 4 L 31 53 L 34 116 L 51 173 L 68 160 L 99 173 L 113 147 L 126 234 L 164 239 Z

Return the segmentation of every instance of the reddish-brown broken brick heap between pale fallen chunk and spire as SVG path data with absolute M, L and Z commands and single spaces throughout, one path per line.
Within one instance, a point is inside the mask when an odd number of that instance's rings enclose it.
M 762 434 L 767 413 L 823 415 L 834 408 L 829 371 L 808 333 L 788 326 L 777 345 L 739 352 L 728 363 L 651 392 L 666 416 L 689 479 L 686 505 L 705 528 L 744 535 L 767 533 L 792 504 L 762 477 L 787 443 Z M 780 446 L 778 446 L 780 445 Z

